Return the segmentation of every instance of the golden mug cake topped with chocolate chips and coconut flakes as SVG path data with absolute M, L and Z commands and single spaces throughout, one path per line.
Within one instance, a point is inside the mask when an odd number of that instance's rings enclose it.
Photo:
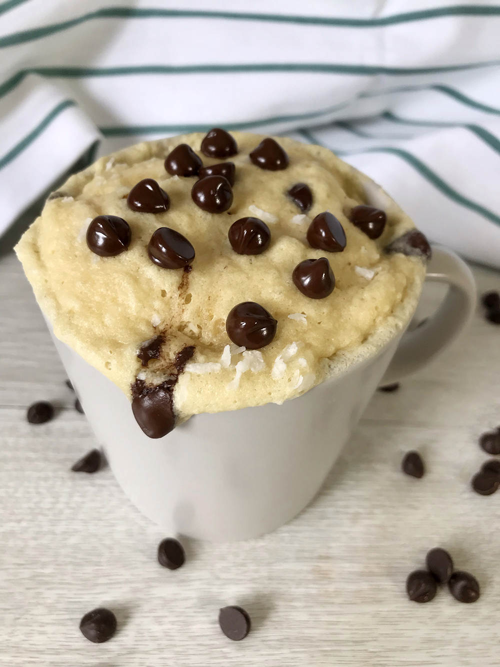
M 16 248 L 57 338 L 127 396 L 163 383 L 181 420 L 281 403 L 371 354 L 413 313 L 427 253 L 331 151 L 204 137 L 102 157 Z

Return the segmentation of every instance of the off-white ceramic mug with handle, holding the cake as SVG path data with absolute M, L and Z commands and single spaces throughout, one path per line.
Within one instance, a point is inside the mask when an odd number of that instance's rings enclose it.
M 475 306 L 475 283 L 455 253 L 434 247 L 427 279 L 449 283 L 425 325 L 286 401 L 193 416 L 158 440 L 136 424 L 110 380 L 55 345 L 119 484 L 166 534 L 243 540 L 275 530 L 317 494 L 381 382 L 414 372 L 448 346 Z

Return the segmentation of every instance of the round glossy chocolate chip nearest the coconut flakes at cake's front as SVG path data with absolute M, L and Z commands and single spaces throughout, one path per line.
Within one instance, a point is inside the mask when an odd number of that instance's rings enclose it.
M 273 340 L 277 321 L 259 303 L 243 301 L 227 315 L 226 331 L 234 344 L 259 350 Z

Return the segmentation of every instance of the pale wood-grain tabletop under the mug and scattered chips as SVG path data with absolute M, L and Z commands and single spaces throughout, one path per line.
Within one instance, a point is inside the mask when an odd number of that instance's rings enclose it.
M 500 424 L 500 327 L 479 309 L 439 360 L 373 397 L 299 518 L 251 542 L 187 542 L 170 572 L 155 558 L 164 535 L 109 470 L 69 472 L 93 436 L 19 263 L 9 254 L 0 269 L 2 666 L 498 667 L 500 492 L 478 496 L 469 480 L 487 459 L 479 434 Z M 480 293 L 500 289 L 499 273 L 474 271 Z M 52 422 L 27 424 L 36 400 L 59 406 Z M 414 448 L 421 480 L 399 469 Z M 447 590 L 407 599 L 407 574 L 438 545 L 477 576 L 475 604 Z M 227 604 L 252 617 L 243 642 L 219 630 Z M 96 606 L 117 614 L 107 644 L 78 629 Z

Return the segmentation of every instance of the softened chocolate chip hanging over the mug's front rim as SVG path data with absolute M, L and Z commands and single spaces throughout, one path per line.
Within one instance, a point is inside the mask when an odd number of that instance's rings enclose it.
M 175 428 L 171 384 L 146 387 L 136 380 L 132 396 L 133 416 L 148 438 L 163 438 Z

